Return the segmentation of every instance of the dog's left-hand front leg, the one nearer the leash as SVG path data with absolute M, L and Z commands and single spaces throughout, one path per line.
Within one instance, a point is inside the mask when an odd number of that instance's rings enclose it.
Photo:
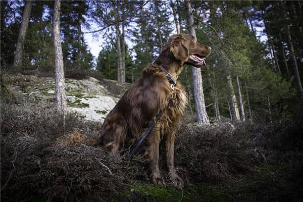
M 150 132 L 148 136 L 149 148 L 149 166 L 150 166 L 150 178 L 155 184 L 161 187 L 165 187 L 164 179 L 161 177 L 159 169 L 159 143 L 160 143 L 160 132 L 157 126 Z

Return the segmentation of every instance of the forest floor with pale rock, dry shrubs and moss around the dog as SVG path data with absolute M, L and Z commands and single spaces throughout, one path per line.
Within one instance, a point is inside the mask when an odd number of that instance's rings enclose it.
M 303 197 L 301 116 L 279 124 L 210 127 L 186 116 L 175 143 L 176 170 L 185 182 L 178 190 L 168 178 L 163 156 L 166 188 L 150 183 L 147 162 L 130 160 L 128 148 L 111 156 L 103 147 L 85 142 L 98 136 L 104 117 L 130 84 L 92 77 L 66 79 L 70 113 L 65 122 L 52 108 L 53 78 L 8 75 L 7 86 L 10 95 L 2 94 L 1 107 L 2 201 L 300 201 Z M 143 154 L 141 148 L 137 157 Z

